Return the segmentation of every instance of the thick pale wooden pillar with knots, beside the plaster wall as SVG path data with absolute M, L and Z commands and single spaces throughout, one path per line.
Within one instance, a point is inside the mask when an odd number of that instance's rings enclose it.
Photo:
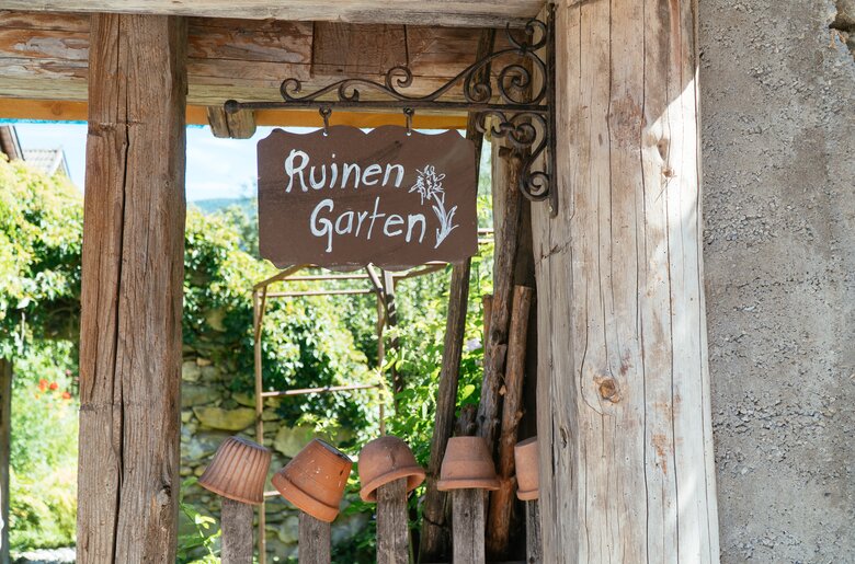
M 544 562 L 718 562 L 696 2 L 557 4 L 534 206 Z

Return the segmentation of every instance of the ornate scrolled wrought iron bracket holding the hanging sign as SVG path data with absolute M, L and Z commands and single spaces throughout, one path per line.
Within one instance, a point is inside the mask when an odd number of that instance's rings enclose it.
M 392 67 L 383 82 L 368 79 L 344 79 L 317 92 L 299 95 L 303 84 L 295 78 L 281 87 L 282 102 L 226 102 L 226 112 L 239 110 L 318 108 L 329 117 L 333 108 L 400 108 L 408 125 L 417 110 L 466 111 L 476 117 L 479 131 L 506 138 L 512 154 L 522 161 L 520 191 L 533 202 L 549 203 L 552 216 L 558 212 L 555 159 L 555 36 L 554 8 L 547 21 L 529 20 L 525 27 L 505 28 L 510 47 L 493 50 L 475 61 L 443 87 L 418 96 L 407 92 L 413 83 L 406 66 Z M 524 35 L 518 38 L 516 35 Z M 542 53 L 546 54 L 544 58 Z M 500 64 L 500 65 L 494 65 Z M 483 72 L 491 66 L 491 72 Z M 463 83 L 464 101 L 447 100 L 447 94 Z M 387 100 L 360 100 L 360 89 L 373 90 Z M 498 95 L 494 95 L 498 94 Z M 324 118 L 324 128 L 327 119 Z

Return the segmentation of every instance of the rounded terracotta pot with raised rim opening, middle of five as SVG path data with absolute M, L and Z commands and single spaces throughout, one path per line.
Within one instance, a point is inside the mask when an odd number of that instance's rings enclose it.
M 415 462 L 412 450 L 398 437 L 387 435 L 372 440 L 360 452 L 360 497 L 377 500 L 377 488 L 399 477 L 407 479 L 407 492 L 424 481 L 424 469 Z

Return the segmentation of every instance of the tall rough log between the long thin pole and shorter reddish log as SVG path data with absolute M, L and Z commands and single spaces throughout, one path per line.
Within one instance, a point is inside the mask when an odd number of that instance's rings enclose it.
M 514 261 L 521 227 L 522 194 L 517 189 L 521 161 L 509 154 L 501 142 L 493 142 L 493 207 L 501 207 L 494 217 L 495 254 L 493 257 L 493 303 L 490 312 L 490 334 L 485 347 L 485 370 L 481 402 L 478 405 L 478 435 L 487 440 L 491 452 L 499 435 L 499 413 L 502 405 L 500 389 L 504 372 L 504 355 L 499 345 L 508 344 L 508 324 L 511 316 L 511 292 Z

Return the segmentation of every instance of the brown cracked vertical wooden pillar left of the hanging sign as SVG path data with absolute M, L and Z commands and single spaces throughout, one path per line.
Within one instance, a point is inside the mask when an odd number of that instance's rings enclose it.
M 78 562 L 174 562 L 186 25 L 96 14 L 80 330 Z

